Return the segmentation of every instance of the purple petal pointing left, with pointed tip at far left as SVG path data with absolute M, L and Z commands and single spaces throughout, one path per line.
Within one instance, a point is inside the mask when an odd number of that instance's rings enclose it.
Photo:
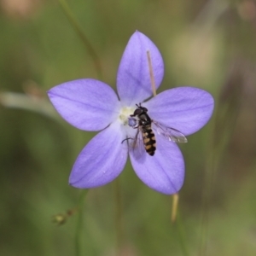
M 102 130 L 119 114 L 119 100 L 113 89 L 95 79 L 57 85 L 48 96 L 61 117 L 81 130 Z

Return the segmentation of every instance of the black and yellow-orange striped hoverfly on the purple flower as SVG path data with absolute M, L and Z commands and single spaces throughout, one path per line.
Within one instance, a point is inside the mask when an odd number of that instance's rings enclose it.
M 152 130 L 152 124 L 156 127 L 156 132 L 164 137 L 166 137 L 169 141 L 174 143 L 187 143 L 187 138 L 174 128 L 167 127 L 166 125 L 162 125 L 153 119 L 150 119 L 148 116 L 148 109 L 144 108 L 141 103 L 137 105 L 137 109 L 135 109 L 134 113 L 131 114 L 131 119 L 129 125 L 134 129 L 137 128 L 137 134 L 134 138 L 133 148 L 139 143 L 140 133 L 143 137 L 143 144 L 146 152 L 149 155 L 154 155 L 156 150 L 156 141 L 154 136 L 154 131 Z M 130 138 L 127 138 L 130 139 Z

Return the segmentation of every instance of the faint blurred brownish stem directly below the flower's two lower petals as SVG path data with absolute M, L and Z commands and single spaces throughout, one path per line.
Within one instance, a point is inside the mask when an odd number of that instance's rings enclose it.
M 116 227 L 116 243 L 117 251 L 116 255 L 121 254 L 123 242 L 124 242 L 124 232 L 122 224 L 122 204 L 121 195 L 119 187 L 119 178 L 116 178 L 113 182 L 114 185 L 114 197 L 115 197 L 115 227 Z

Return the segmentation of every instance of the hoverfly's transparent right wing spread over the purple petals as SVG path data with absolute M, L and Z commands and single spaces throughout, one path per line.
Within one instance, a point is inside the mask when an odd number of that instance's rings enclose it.
M 187 138 L 180 131 L 177 131 L 176 129 L 174 129 L 172 127 L 168 127 L 166 125 L 162 125 L 154 120 L 152 120 L 152 122 L 154 124 L 154 130 L 158 134 L 166 137 L 166 139 L 168 139 L 169 141 L 172 141 L 174 143 L 187 143 L 188 142 Z

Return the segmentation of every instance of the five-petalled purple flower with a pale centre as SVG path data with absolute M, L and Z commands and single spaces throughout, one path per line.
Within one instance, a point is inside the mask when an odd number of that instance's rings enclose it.
M 129 124 L 130 115 L 141 103 L 150 119 L 188 136 L 207 124 L 214 102 L 207 91 L 192 87 L 166 90 L 144 102 L 152 96 L 147 51 L 157 89 L 164 75 L 160 51 L 143 33 L 135 32 L 119 64 L 119 97 L 108 84 L 95 79 L 74 80 L 49 90 L 49 99 L 63 119 L 81 130 L 100 131 L 74 163 L 69 177 L 73 187 L 89 189 L 110 183 L 124 169 L 129 154 L 134 171 L 148 187 L 167 195 L 181 189 L 184 161 L 177 144 L 152 125 L 155 153 L 151 156 L 143 150 L 137 157 L 131 148 L 137 129 Z

